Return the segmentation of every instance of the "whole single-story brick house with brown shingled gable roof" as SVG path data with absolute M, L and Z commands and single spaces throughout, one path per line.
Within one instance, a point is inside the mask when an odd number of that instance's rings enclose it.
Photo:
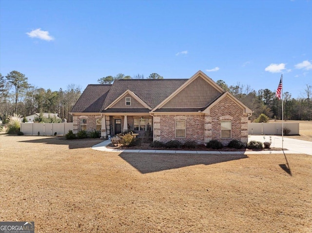
M 88 85 L 73 107 L 74 133 L 153 131 L 154 141 L 248 141 L 252 110 L 198 71 L 190 79 L 129 79 Z

